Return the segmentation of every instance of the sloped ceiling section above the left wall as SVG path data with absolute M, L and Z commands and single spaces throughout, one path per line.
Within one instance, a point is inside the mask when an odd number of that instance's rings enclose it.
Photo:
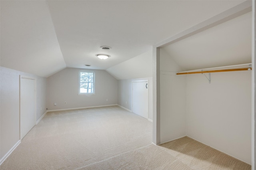
M 66 68 L 45 1 L 1 1 L 1 66 L 48 77 Z

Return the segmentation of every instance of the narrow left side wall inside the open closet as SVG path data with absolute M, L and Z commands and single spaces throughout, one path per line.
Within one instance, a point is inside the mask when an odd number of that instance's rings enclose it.
M 160 142 L 186 136 L 186 78 L 182 68 L 160 49 Z

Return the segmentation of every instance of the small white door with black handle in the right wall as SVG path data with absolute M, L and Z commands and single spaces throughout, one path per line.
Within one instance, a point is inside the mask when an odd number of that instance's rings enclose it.
M 132 112 L 148 119 L 148 81 L 132 82 Z

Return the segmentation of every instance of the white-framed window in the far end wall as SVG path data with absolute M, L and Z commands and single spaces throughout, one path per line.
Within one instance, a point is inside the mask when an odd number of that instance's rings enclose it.
M 79 94 L 94 94 L 94 72 L 79 72 Z

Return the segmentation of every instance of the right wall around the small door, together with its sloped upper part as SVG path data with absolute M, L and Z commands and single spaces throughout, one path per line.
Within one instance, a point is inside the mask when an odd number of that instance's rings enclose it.
M 148 119 L 152 120 L 152 50 L 110 67 L 106 71 L 118 79 L 118 105 L 130 111 L 132 111 L 132 81 L 148 80 Z

